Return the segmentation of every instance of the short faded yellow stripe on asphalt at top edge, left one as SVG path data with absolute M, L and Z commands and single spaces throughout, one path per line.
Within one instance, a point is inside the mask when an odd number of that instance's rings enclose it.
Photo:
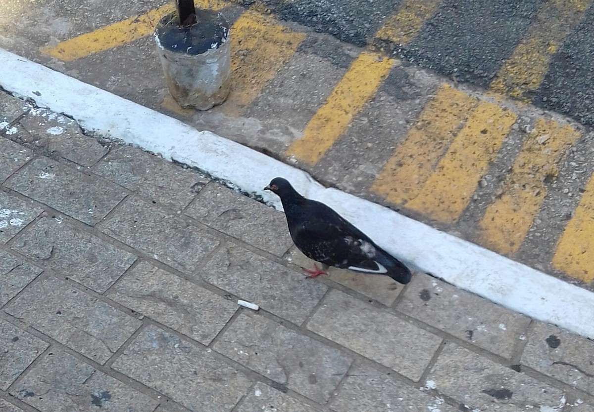
M 398 12 L 388 17 L 375 34 L 380 40 L 407 44 L 414 39 L 425 21 L 440 7 L 442 0 L 404 0 Z

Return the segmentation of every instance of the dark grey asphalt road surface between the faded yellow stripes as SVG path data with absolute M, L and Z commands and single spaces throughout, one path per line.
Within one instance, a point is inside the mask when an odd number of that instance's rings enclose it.
M 404 0 L 262 2 L 280 18 L 357 46 L 375 43 L 374 34 L 380 30 L 386 16 L 405 3 Z M 545 3 L 539 0 L 444 0 L 413 41 L 408 44 L 387 41 L 386 45 L 394 56 L 414 65 L 453 76 L 459 82 L 488 87 L 530 24 L 543 19 L 539 11 Z M 549 3 L 561 9 L 570 7 L 569 1 Z M 567 33 L 563 45 L 552 55 L 540 86 L 530 91 L 528 98 L 538 107 L 594 126 L 594 7 L 591 2 L 581 2 L 580 6 L 589 6 L 589 9 L 580 16 L 581 22 Z M 547 18 L 550 21 L 546 21 Z M 548 15 L 544 20 L 544 25 L 550 27 L 557 18 Z

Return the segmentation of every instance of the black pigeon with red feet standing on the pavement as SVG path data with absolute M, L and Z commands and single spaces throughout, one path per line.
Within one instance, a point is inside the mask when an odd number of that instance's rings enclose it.
M 275 177 L 264 190 L 276 193 L 283 207 L 289 233 L 304 255 L 322 264 L 322 269 L 304 269 L 309 278 L 326 274 L 329 266 L 361 273 L 386 274 L 403 285 L 410 270 L 376 245 L 342 216 L 316 200 L 305 199 L 282 177 Z

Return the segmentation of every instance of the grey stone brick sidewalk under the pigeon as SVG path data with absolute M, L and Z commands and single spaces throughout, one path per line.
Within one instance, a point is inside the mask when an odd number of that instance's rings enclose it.
M 424 274 L 306 280 L 282 213 L 0 109 L 0 411 L 594 411 L 592 341 Z

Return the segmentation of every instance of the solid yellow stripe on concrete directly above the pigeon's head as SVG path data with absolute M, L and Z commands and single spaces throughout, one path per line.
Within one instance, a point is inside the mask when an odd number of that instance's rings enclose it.
M 286 155 L 311 165 L 318 162 L 345 132 L 352 117 L 375 94 L 393 63 L 393 59 L 378 53 L 361 53 L 309 120 L 303 137 L 289 146 Z

